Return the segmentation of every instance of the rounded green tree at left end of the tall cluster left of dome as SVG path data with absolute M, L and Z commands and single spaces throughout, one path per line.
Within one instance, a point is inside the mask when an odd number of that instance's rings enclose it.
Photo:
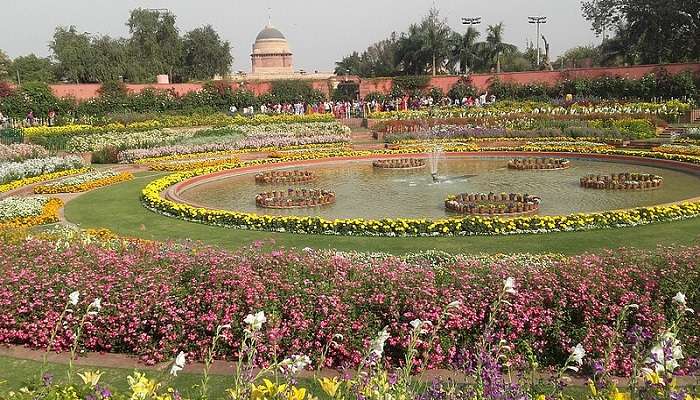
M 94 82 L 95 59 L 90 35 L 75 26 L 58 27 L 49 43 L 57 61 L 57 75 L 70 82 Z

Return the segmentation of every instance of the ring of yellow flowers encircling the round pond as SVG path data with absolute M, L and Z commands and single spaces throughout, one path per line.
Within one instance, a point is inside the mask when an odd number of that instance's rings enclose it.
M 465 149 L 465 147 L 468 147 Z M 498 151 L 496 149 L 481 149 Z M 172 174 L 156 179 L 147 185 L 141 195 L 142 204 L 155 212 L 187 221 L 208 225 L 291 232 L 303 234 L 329 234 L 354 236 L 470 236 L 470 235 L 513 235 L 522 233 L 571 232 L 603 228 L 646 225 L 655 222 L 674 221 L 700 216 L 700 202 L 684 202 L 674 205 L 639 207 L 628 210 L 605 211 L 598 213 L 571 214 L 562 216 L 523 216 L 515 218 L 466 216 L 445 219 L 336 219 L 327 220 L 319 217 L 271 216 L 254 213 L 242 213 L 227 210 L 211 210 L 181 204 L 165 199 L 161 194 L 170 186 L 187 179 L 208 175 L 223 170 L 232 170 L 252 165 L 261 165 L 305 159 L 330 159 L 334 157 L 356 157 L 382 154 L 405 154 L 424 151 L 418 146 L 398 151 L 355 151 L 295 154 L 283 159 L 255 160 L 212 168 L 203 168 L 188 172 Z M 446 151 L 474 151 L 471 146 L 455 146 Z M 503 151 L 518 151 L 515 148 Z M 544 151 L 544 150 L 543 150 Z M 546 151 L 571 152 L 585 156 L 581 149 L 564 147 Z M 600 150 L 590 154 L 614 154 L 650 158 L 666 158 L 664 154 L 639 151 Z M 700 164 L 700 158 L 685 159 L 685 162 Z

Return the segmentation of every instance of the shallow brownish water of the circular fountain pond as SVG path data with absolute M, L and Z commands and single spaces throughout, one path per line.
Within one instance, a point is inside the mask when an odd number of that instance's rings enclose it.
M 444 218 L 457 216 L 445 209 L 445 199 L 456 193 L 527 193 L 542 199 L 540 215 L 566 215 L 672 203 L 700 197 L 700 177 L 691 173 L 646 165 L 586 158 L 571 159 L 566 170 L 514 171 L 507 157 L 451 156 L 439 161 L 439 181 L 430 168 L 382 170 L 371 159 L 328 161 L 304 165 L 318 179 L 309 184 L 266 185 L 264 190 L 324 188 L 336 194 L 332 205 L 313 209 L 277 210 L 256 206 L 261 186 L 256 172 L 238 173 L 188 185 L 179 199 L 197 206 L 267 215 L 306 215 L 336 218 Z M 298 168 L 262 167 L 263 170 Z M 653 191 L 586 190 L 579 179 L 587 174 L 630 171 L 661 175 L 664 185 Z M 257 172 L 260 172 L 258 170 Z

